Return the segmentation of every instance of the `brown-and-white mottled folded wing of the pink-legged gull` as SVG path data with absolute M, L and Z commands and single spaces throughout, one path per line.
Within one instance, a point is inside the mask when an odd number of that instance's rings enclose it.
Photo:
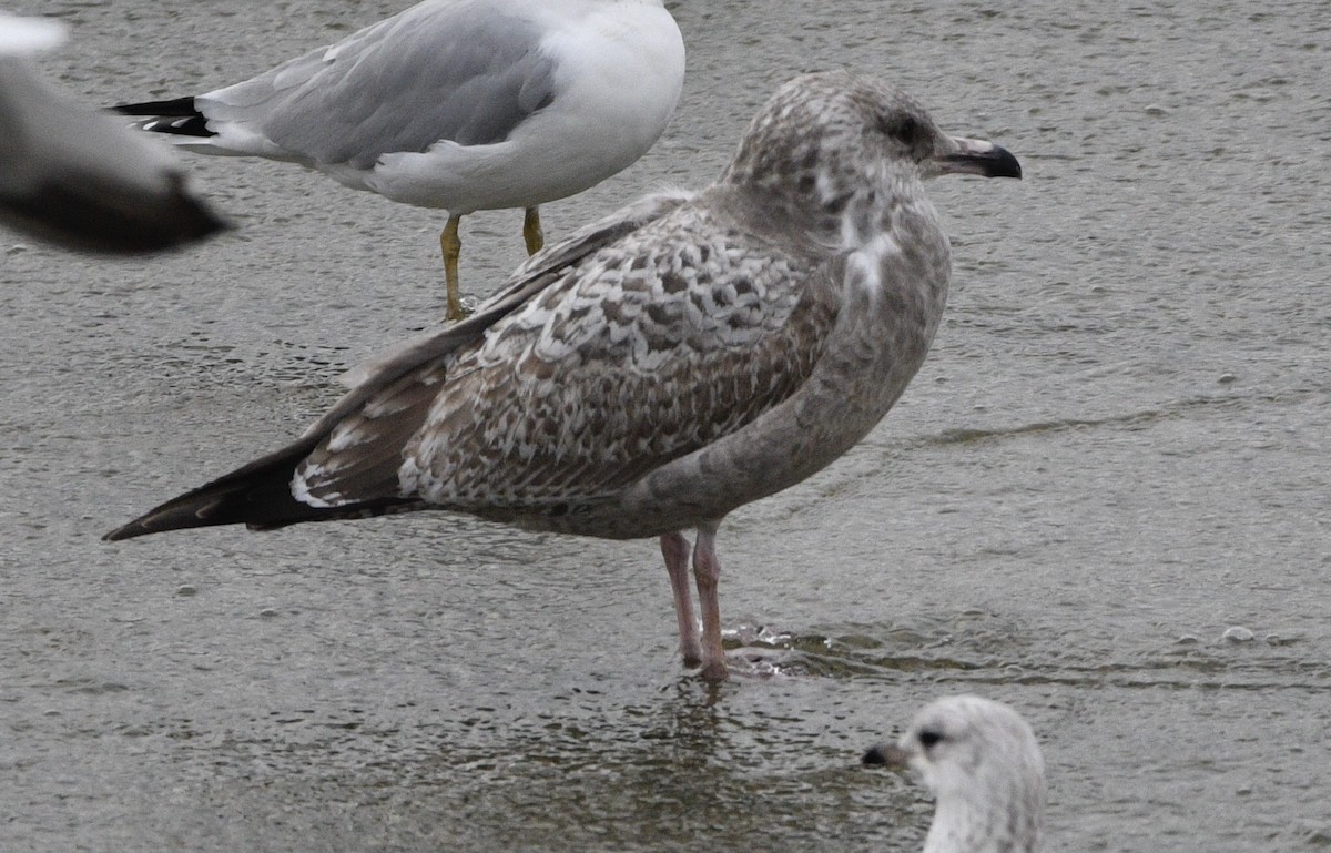
M 840 278 L 715 216 L 679 208 L 583 257 L 478 345 L 405 377 L 391 389 L 405 406 L 371 398 L 297 480 L 331 503 L 381 496 L 362 486 L 395 476 L 397 496 L 539 512 L 612 494 L 752 422 L 812 371 Z M 381 436 L 402 447 L 403 421 L 421 428 L 391 474 L 341 459 Z

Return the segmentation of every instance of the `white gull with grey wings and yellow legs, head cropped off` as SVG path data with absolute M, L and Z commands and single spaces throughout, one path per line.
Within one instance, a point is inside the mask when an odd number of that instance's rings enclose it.
M 210 154 L 287 160 L 353 189 L 445 208 L 449 318 L 458 224 L 538 205 L 628 168 L 666 129 L 684 43 L 663 0 L 426 0 L 253 80 L 116 109 Z

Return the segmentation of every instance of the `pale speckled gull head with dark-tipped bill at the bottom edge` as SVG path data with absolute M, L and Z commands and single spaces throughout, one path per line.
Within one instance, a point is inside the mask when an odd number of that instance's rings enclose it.
M 910 767 L 933 792 L 925 853 L 1036 853 L 1045 826 L 1045 764 L 1016 711 L 978 696 L 930 704 L 897 744 L 865 764 Z

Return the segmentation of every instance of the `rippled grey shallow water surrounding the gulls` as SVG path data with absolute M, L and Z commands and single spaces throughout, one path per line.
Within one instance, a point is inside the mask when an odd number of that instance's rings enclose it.
M 116 102 L 401 5 L 15 11 L 67 20 L 44 67 Z M 705 184 L 777 83 L 836 65 L 1028 176 L 932 185 L 930 361 L 845 459 L 728 519 L 719 688 L 676 660 L 650 542 L 445 516 L 98 540 L 433 322 L 437 214 L 194 157 L 241 226 L 201 249 L 0 234 L 0 846 L 914 849 L 918 786 L 858 756 L 970 691 L 1040 735 L 1050 849 L 1327 849 L 1331 13 L 1267 9 L 673 4 L 671 129 L 548 234 Z M 473 293 L 519 221 L 466 221 Z

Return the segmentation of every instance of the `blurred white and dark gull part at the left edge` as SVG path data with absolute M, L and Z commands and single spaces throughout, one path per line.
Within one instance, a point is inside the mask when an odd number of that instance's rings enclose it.
M 64 25 L 0 13 L 0 222 L 71 249 L 133 253 L 200 240 L 222 222 L 185 192 L 170 152 L 85 109 L 28 56 Z

